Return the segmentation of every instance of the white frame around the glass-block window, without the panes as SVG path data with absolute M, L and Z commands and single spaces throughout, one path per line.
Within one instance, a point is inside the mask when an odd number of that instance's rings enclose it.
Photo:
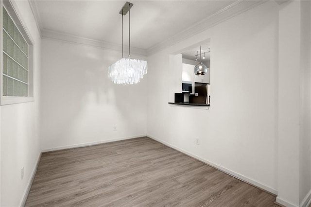
M 26 23 L 24 22 L 23 18 L 21 17 L 20 12 L 17 9 L 14 1 L 11 0 L 1 0 L 0 1 L 0 89 L 1 89 L 1 96 L 0 96 L 0 104 L 1 105 L 8 105 L 8 104 L 19 104 L 25 102 L 34 102 L 34 39 L 32 38 Z M 21 35 L 23 35 L 24 39 L 28 44 L 28 97 L 22 96 L 3 96 L 3 7 L 6 9 L 12 20 L 14 21 L 15 25 L 17 26 Z

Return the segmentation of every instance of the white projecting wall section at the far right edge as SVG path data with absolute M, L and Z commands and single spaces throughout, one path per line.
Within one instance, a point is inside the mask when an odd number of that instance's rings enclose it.
M 287 1 L 279 9 L 276 202 L 289 207 L 304 206 L 311 199 L 310 10 L 310 1 Z

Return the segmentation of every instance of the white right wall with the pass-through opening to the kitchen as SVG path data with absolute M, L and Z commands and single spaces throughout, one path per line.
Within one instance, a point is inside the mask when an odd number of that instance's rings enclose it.
M 277 193 L 277 35 L 268 1 L 148 56 L 148 136 Z M 169 54 L 208 38 L 209 110 L 169 105 Z

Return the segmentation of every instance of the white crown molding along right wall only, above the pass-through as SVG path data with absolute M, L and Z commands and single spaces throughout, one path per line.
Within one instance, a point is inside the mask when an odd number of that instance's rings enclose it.
M 208 16 L 207 18 L 204 18 L 199 22 L 193 24 L 191 27 L 171 36 L 163 42 L 155 44 L 147 50 L 147 54 L 150 55 L 154 54 L 155 52 L 159 52 L 167 47 L 181 42 L 184 39 L 190 38 L 193 35 L 203 32 L 216 24 L 219 24 L 227 19 L 242 14 L 243 12 L 250 10 L 266 1 L 267 0 L 237 0 L 225 7 L 224 9 L 219 10 L 218 12 Z

